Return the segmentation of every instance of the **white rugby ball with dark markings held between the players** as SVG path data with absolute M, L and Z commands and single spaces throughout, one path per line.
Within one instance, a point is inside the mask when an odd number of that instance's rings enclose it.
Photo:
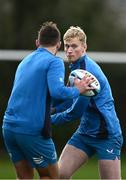
M 69 75 L 69 79 L 68 79 L 69 85 L 74 86 L 74 78 L 75 77 L 78 78 L 79 80 L 81 80 L 85 76 L 94 78 L 94 82 L 92 82 L 90 84 L 90 86 L 94 87 L 94 89 L 85 92 L 83 95 L 84 96 L 96 96 L 100 92 L 100 83 L 93 74 L 91 74 L 90 72 L 88 72 L 86 70 L 83 70 L 83 69 L 73 70 Z

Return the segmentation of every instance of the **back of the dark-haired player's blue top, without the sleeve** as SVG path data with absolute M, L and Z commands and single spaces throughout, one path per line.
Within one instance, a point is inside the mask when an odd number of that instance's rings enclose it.
M 19 64 L 4 116 L 4 127 L 15 132 L 35 134 L 44 125 L 47 72 L 55 57 L 38 48 Z M 13 127 L 13 128 L 12 128 Z

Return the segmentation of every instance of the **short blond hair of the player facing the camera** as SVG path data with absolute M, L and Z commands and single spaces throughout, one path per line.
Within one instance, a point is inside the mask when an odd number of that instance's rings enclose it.
M 87 36 L 79 26 L 70 26 L 70 28 L 65 32 L 63 40 L 67 40 L 74 37 L 78 37 L 78 39 L 84 44 L 87 43 Z

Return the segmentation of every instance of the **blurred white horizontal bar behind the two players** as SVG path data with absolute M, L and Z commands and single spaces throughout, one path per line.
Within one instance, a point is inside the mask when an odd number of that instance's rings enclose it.
M 32 50 L 0 50 L 0 61 L 20 61 Z M 126 53 L 121 52 L 87 52 L 88 55 L 99 63 L 126 63 Z M 59 51 L 57 56 L 67 61 L 63 51 Z

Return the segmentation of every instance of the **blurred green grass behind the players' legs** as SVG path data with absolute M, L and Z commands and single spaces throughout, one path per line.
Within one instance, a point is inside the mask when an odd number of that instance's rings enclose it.
M 35 173 L 35 179 L 37 178 L 38 175 Z M 122 178 L 126 179 L 126 154 L 122 156 Z M 16 179 L 13 165 L 6 154 L 0 157 L 0 179 Z M 97 160 L 90 159 L 74 174 L 72 179 L 99 179 Z

